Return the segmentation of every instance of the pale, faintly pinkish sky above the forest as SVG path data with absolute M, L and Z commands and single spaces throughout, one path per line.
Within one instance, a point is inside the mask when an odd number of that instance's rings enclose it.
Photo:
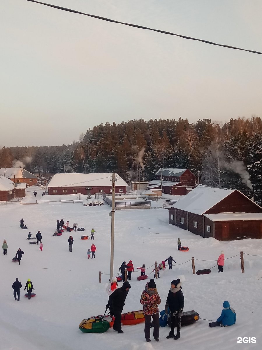
M 44 0 L 262 51 L 261 0 Z M 69 144 L 129 119 L 262 118 L 262 55 L 0 1 L 0 147 Z

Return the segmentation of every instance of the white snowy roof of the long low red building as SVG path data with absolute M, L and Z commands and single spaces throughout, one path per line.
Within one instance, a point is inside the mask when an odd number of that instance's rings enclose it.
M 128 186 L 128 184 L 115 174 L 118 181 L 115 186 Z M 92 174 L 55 174 L 47 184 L 47 187 L 97 187 L 112 186 L 112 173 L 92 173 Z

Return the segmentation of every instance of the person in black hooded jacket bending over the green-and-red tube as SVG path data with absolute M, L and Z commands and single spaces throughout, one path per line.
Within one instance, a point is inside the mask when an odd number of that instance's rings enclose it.
M 129 289 L 131 288 L 128 282 L 124 282 L 122 287 L 114 290 L 114 292 L 109 296 L 107 308 L 113 309 L 113 314 L 115 316 L 115 321 L 113 329 L 118 333 L 123 333 L 121 329 L 121 313 L 125 305 L 125 300 Z

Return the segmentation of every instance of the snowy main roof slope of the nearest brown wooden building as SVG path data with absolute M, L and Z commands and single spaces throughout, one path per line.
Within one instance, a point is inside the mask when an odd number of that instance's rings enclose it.
M 199 185 L 190 191 L 183 199 L 172 205 L 172 208 L 181 209 L 190 213 L 203 215 L 208 209 L 222 201 L 236 190 L 215 188 Z

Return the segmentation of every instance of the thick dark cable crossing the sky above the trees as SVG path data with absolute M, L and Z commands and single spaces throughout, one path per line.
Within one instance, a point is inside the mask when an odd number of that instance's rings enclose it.
M 171 33 L 170 31 L 159 30 L 159 29 L 153 29 L 153 28 L 148 28 L 148 27 L 143 27 L 143 26 L 135 25 L 135 24 L 132 24 L 132 23 L 125 23 L 125 22 L 115 21 L 115 20 L 112 20 L 112 19 L 109 19 L 109 18 L 106 18 L 106 17 L 96 16 L 96 15 L 90 15 L 90 14 L 87 14 L 87 13 L 84 13 L 84 12 L 79 12 L 79 11 L 76 11 L 76 10 L 72 10 L 72 9 L 69 9 L 69 8 L 66 8 L 66 7 L 51 5 L 51 4 L 45 3 L 45 2 L 40 2 L 40 1 L 35 1 L 35 0 L 26 0 L 26 1 L 40 3 L 41 5 L 45 5 L 45 6 L 49 6 L 49 7 L 54 7 L 54 8 L 57 8 L 57 9 L 59 9 L 59 10 L 64 10 L 64 11 L 68 11 L 68 12 L 77 13 L 77 14 L 80 14 L 80 15 L 85 15 L 85 16 L 97 18 L 97 19 L 100 19 L 100 20 L 103 20 L 103 21 L 108 21 L 108 22 L 113 22 L 113 23 L 119 23 L 119 24 L 122 24 L 122 25 L 125 25 L 125 26 L 130 26 L 130 27 L 135 27 L 135 28 L 140 28 L 140 29 L 152 30 L 152 31 L 156 31 L 156 32 L 162 33 L 162 34 L 175 35 L 175 36 L 179 36 L 179 37 L 184 38 L 184 39 L 197 40 L 197 41 L 204 42 L 204 43 L 206 43 L 206 44 L 222 46 L 222 47 L 226 47 L 226 48 L 229 48 L 229 49 L 248 51 L 248 52 L 253 52 L 253 54 L 262 55 L 262 52 L 259 52 L 259 51 L 241 49 L 241 48 L 239 48 L 239 47 L 234 47 L 234 46 L 229 46 L 229 45 L 224 45 L 224 44 L 217 44 L 217 43 L 214 43 L 214 42 L 212 42 L 212 41 L 207 41 L 207 40 L 203 40 L 203 39 L 193 38 L 193 37 L 190 37 L 190 36 L 185 36 L 185 35 L 180 35 L 180 34 Z

